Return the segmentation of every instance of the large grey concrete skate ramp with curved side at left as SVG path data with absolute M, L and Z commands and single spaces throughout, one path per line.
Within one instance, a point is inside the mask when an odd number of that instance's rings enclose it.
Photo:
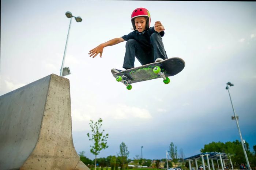
M 0 170 L 89 170 L 72 139 L 69 80 L 49 75 L 0 96 Z

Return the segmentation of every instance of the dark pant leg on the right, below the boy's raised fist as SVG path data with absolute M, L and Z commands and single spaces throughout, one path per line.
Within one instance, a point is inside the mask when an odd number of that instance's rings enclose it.
M 165 48 L 163 47 L 163 40 L 159 33 L 153 33 L 150 36 L 150 45 L 153 49 L 154 62 L 157 58 L 167 59 Z

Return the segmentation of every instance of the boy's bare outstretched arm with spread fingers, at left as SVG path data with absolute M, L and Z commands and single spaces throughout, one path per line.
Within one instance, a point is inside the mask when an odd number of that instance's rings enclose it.
M 95 47 L 94 49 L 91 49 L 91 50 L 89 51 L 89 54 L 91 54 L 90 57 L 94 55 L 94 56 L 93 56 L 93 58 L 94 58 L 94 57 L 96 57 L 99 53 L 100 53 L 100 54 L 99 54 L 99 57 L 101 57 L 104 47 L 111 46 L 111 45 L 116 45 L 116 44 L 118 44 L 118 43 L 120 43 L 120 42 L 123 42 L 123 41 L 125 41 L 125 40 L 120 37 L 120 38 L 114 38 L 114 39 L 111 39 L 111 40 L 109 40 L 109 41 L 107 41 L 107 42 L 104 42 L 104 43 L 98 45 L 97 47 Z

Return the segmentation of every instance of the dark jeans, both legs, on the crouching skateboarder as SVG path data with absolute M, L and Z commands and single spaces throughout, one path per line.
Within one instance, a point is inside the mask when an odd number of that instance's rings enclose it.
M 142 65 L 154 63 L 157 58 L 163 58 L 164 60 L 167 59 L 162 37 L 159 33 L 151 34 L 150 46 L 151 49 L 143 50 L 139 42 L 135 39 L 129 39 L 125 45 L 123 68 L 134 68 L 135 57 Z

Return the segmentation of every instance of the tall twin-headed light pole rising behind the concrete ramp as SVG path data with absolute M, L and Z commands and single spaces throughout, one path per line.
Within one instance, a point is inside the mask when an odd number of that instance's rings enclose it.
M 71 27 L 72 17 L 75 18 L 76 22 L 82 22 L 82 18 L 81 18 L 80 16 L 78 16 L 78 17 L 73 16 L 72 13 L 69 12 L 69 11 L 66 12 L 65 15 L 66 15 L 68 18 L 70 18 L 69 28 L 68 28 L 68 35 L 69 35 L 69 30 L 70 30 L 70 27 Z M 66 41 L 65 50 L 64 50 L 64 55 L 63 55 L 63 60 L 62 60 L 62 64 L 61 64 L 60 76 L 66 76 L 66 75 L 69 75 L 69 74 L 70 74 L 70 71 L 69 71 L 69 68 L 68 68 L 68 67 L 63 68 L 64 62 L 65 62 L 65 56 L 66 56 L 67 45 L 68 45 L 68 36 L 67 36 L 67 41 Z

